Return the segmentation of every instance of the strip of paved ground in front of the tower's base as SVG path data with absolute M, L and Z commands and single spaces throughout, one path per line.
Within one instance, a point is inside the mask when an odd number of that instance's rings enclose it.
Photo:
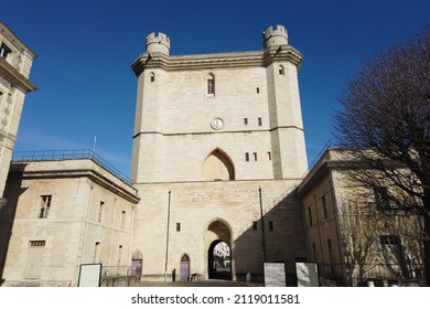
M 140 281 L 133 287 L 261 287 L 262 285 L 254 283 L 239 283 L 230 280 L 204 280 L 204 281 L 175 281 L 175 283 L 155 283 Z

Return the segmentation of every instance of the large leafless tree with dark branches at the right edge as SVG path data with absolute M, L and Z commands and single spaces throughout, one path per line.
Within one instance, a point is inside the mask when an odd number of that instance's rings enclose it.
M 334 130 L 338 146 L 367 167 L 353 169 L 355 179 L 372 188 L 381 203 L 388 200 L 390 212 L 422 217 L 429 286 L 430 28 L 365 63 L 347 82 L 340 103 Z

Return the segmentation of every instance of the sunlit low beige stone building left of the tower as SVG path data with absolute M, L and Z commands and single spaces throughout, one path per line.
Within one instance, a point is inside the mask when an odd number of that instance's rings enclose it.
M 107 266 L 104 277 L 130 275 L 136 193 L 93 156 L 13 161 L 0 210 L 3 286 L 75 286 L 92 263 Z

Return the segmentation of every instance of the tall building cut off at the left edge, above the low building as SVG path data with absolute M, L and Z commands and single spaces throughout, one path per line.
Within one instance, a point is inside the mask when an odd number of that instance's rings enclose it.
M 35 54 L 0 21 L 0 207 Z

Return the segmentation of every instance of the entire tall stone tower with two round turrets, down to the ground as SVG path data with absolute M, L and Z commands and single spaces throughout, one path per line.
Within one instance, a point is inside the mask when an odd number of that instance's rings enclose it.
M 298 86 L 302 56 L 282 25 L 266 29 L 264 45 L 171 55 L 170 38 L 150 33 L 133 62 L 131 179 L 141 198 L 133 256 L 142 258 L 143 276 L 163 278 L 175 268 L 185 278 L 192 267 L 211 277 L 219 242 L 230 249 L 233 279 L 247 273 L 258 278 L 264 260 L 284 260 L 292 270 L 305 252 L 292 194 L 308 168 Z M 260 205 L 269 226 L 260 226 Z

